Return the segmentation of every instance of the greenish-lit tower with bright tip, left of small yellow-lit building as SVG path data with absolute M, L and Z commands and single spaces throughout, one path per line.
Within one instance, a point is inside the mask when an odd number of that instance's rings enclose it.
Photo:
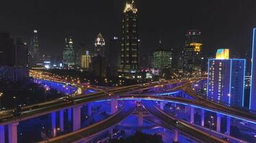
M 65 47 L 63 50 L 63 64 L 67 69 L 72 68 L 75 65 L 75 51 L 73 49 L 73 41 L 65 39 Z

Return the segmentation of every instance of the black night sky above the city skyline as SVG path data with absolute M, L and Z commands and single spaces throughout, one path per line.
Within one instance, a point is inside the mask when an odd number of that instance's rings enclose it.
M 75 46 L 93 46 L 99 32 L 108 42 L 121 33 L 124 0 L 1 0 L 0 31 L 29 41 L 39 31 L 40 50 L 60 54 L 67 35 Z M 182 49 L 188 29 L 200 29 L 204 53 L 228 47 L 232 53 L 250 50 L 256 27 L 255 0 L 138 0 L 140 51 L 165 47 Z M 106 43 L 108 44 L 108 43 Z

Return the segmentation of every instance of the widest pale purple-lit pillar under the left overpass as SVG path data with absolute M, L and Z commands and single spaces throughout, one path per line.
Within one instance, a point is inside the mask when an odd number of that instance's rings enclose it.
M 73 131 L 81 128 L 81 108 L 82 106 L 73 107 Z

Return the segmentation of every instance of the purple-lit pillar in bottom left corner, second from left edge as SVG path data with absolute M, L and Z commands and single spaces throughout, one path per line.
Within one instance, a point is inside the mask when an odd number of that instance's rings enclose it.
M 8 125 L 8 134 L 9 134 L 9 143 L 17 143 L 18 142 L 18 133 L 17 126 L 19 122 L 15 122 Z

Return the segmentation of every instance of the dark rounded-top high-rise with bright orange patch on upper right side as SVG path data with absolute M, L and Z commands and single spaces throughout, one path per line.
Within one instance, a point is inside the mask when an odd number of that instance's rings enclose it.
M 186 77 L 201 76 L 201 31 L 189 30 L 185 35 L 185 46 L 183 49 L 183 74 Z

